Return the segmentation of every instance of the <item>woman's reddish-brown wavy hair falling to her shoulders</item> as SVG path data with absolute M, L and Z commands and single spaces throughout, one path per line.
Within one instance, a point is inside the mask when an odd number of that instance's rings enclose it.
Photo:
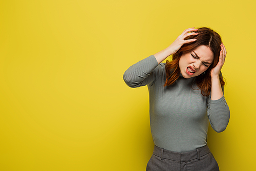
M 196 41 L 190 42 L 188 44 L 184 44 L 178 52 L 173 54 L 172 61 L 166 61 L 165 72 L 166 72 L 166 80 L 165 86 L 172 85 L 180 76 L 180 68 L 179 68 L 179 60 L 182 53 L 188 53 L 193 49 L 205 45 L 210 48 L 212 53 L 214 53 L 214 61 L 211 63 L 209 68 L 205 71 L 205 74 L 201 74 L 196 77 L 196 84 L 201 89 L 201 94 L 203 96 L 209 96 L 211 91 L 211 76 L 210 71 L 212 68 L 215 68 L 217 63 L 219 62 L 220 51 L 221 51 L 221 36 L 215 32 L 214 30 L 206 27 L 199 28 L 197 31 L 198 35 L 191 35 L 185 38 L 193 39 L 196 38 Z M 225 85 L 223 78 L 220 77 L 221 86 Z

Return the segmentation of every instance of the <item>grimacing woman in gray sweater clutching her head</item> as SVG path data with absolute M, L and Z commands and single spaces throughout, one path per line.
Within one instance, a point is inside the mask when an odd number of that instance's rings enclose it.
M 230 112 L 221 68 L 226 49 L 209 28 L 186 29 L 169 47 L 131 66 L 132 88 L 148 86 L 154 152 L 146 170 L 219 170 L 207 146 L 208 119 L 226 129 Z M 173 55 L 170 62 L 161 63 Z

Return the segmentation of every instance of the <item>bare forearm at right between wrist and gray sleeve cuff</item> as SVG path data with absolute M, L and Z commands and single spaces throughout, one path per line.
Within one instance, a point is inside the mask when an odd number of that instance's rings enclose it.
M 211 100 L 218 100 L 223 96 L 220 78 L 211 77 Z

